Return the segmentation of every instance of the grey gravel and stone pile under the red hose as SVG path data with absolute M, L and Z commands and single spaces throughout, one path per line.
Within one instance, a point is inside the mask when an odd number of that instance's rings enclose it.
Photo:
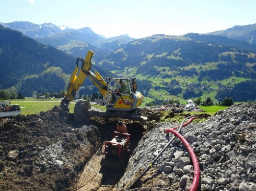
M 120 182 L 138 176 L 168 142 L 164 129 L 177 124 L 159 123 L 143 136 L 130 158 Z M 199 190 L 256 190 L 256 105 L 240 104 L 220 110 L 203 123 L 182 128 L 199 160 Z M 171 134 L 170 134 L 171 137 Z M 193 163 L 188 151 L 176 140 L 155 163 L 158 173 L 171 185 L 189 189 L 193 181 Z M 121 185 L 122 186 L 122 185 Z M 175 188 L 177 189 L 177 187 Z

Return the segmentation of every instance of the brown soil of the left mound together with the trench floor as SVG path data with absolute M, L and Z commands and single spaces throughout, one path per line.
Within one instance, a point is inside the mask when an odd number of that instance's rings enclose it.
M 112 138 L 119 120 L 131 134 L 132 152 L 147 125 L 139 121 L 91 118 L 86 125 L 77 124 L 67 109 L 57 106 L 0 119 L 0 190 L 116 190 L 124 172 L 109 174 L 100 160 L 103 141 Z

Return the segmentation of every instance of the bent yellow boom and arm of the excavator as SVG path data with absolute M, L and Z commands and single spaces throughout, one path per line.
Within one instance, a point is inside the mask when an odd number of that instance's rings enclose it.
M 100 93 L 103 95 L 103 97 L 107 96 L 107 87 L 108 84 L 104 79 L 101 77 L 101 75 L 95 71 L 95 74 L 90 71 L 91 69 L 91 58 L 94 55 L 94 52 L 91 50 L 88 50 L 88 53 L 85 57 L 85 59 L 77 58 L 76 60 L 76 68 L 71 74 L 71 79 L 69 80 L 68 86 L 67 86 L 67 93 L 65 94 L 65 98 L 68 99 L 68 101 L 72 101 L 76 95 L 76 92 L 78 91 L 79 87 L 84 83 L 87 75 L 89 75 L 90 80 L 96 87 L 99 88 Z M 82 67 L 79 70 L 78 62 L 82 61 Z M 78 72 L 79 70 L 79 72 Z M 78 75 L 77 75 L 78 72 Z

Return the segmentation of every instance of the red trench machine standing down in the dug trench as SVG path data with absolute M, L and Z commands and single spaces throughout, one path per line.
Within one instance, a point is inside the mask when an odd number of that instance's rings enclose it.
M 113 139 L 105 141 L 104 157 L 101 167 L 121 170 L 125 168 L 124 154 L 129 148 L 130 134 L 114 131 Z

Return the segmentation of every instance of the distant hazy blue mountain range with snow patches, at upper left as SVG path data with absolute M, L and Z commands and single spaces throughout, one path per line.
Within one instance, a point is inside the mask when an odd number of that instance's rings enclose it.
M 2 24 L 4 27 L 22 32 L 41 44 L 53 46 L 75 57 L 86 54 L 85 48 L 95 52 L 100 48 L 102 53 L 106 53 L 135 40 L 127 34 L 107 39 L 88 27 L 76 30 L 66 26 L 57 27 L 52 23 L 33 24 L 23 21 Z

